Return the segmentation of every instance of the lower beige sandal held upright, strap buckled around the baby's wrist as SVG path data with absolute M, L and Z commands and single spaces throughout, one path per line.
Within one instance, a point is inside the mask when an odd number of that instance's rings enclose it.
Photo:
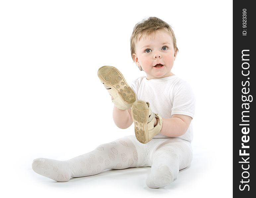
M 154 119 L 157 125 L 154 127 Z M 134 121 L 135 136 L 140 143 L 146 144 L 162 129 L 162 117 L 154 114 L 149 102 L 138 100 L 132 105 L 132 118 Z

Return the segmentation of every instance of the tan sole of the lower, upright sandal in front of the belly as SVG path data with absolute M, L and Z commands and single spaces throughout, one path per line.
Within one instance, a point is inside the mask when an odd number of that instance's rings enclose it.
M 146 102 L 138 100 L 133 104 L 132 118 L 134 121 L 134 131 L 137 140 L 142 144 L 146 144 L 149 140 L 149 107 Z

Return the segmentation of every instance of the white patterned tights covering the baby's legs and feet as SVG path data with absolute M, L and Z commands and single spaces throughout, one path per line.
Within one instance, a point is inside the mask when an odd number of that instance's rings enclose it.
M 126 136 L 70 160 L 34 159 L 32 169 L 57 182 L 67 182 L 71 177 L 96 175 L 106 169 L 151 167 L 146 184 L 159 188 L 173 182 L 191 160 L 192 148 L 185 140 L 152 139 L 141 144 L 135 136 Z

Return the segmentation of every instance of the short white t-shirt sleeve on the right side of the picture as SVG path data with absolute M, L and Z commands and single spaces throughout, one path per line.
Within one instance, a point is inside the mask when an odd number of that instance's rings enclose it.
M 195 114 L 195 95 L 190 85 L 182 81 L 177 85 L 173 93 L 172 115 L 185 115 L 194 117 Z

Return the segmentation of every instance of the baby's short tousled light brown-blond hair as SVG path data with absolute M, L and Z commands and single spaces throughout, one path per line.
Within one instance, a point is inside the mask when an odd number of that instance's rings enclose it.
M 148 17 L 137 23 L 133 28 L 132 36 L 130 39 L 132 59 L 133 54 L 135 53 L 135 43 L 138 42 L 143 36 L 150 36 L 152 33 L 156 33 L 157 30 L 163 30 L 169 33 L 173 41 L 174 53 L 177 53 L 179 51 L 176 45 L 176 38 L 173 30 L 171 29 L 171 26 L 158 17 Z M 140 68 L 140 70 L 142 70 L 142 68 Z

